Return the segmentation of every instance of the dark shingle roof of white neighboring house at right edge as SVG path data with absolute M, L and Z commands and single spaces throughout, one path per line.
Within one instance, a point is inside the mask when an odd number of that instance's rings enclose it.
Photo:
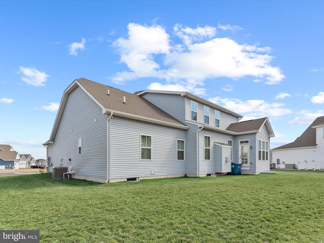
M 324 116 L 317 117 L 311 125 L 298 137 L 294 142 L 288 143 L 271 150 L 288 149 L 288 148 L 301 148 L 316 146 L 316 129 L 315 126 L 324 125 Z

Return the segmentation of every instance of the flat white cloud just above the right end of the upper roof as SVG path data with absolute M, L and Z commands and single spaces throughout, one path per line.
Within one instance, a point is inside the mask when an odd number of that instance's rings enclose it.
M 243 120 L 269 116 L 278 117 L 293 112 L 291 109 L 284 108 L 284 103 L 268 103 L 264 100 L 241 101 L 239 99 L 215 97 L 210 98 L 209 101 L 244 115 Z

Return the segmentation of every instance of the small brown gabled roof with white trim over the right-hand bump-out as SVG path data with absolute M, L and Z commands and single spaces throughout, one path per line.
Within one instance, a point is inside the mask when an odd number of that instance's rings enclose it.
M 246 132 L 260 132 L 260 129 L 263 125 L 266 125 L 269 136 L 274 137 L 274 133 L 270 126 L 269 120 L 267 117 L 254 119 L 254 120 L 246 120 L 240 121 L 239 123 L 232 123 L 227 127 L 227 131 L 235 132 L 235 133 L 246 133 Z

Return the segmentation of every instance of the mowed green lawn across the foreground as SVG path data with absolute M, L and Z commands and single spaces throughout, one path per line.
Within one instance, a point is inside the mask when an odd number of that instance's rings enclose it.
M 0 177 L 0 229 L 41 242 L 324 242 L 324 171 L 99 184 Z

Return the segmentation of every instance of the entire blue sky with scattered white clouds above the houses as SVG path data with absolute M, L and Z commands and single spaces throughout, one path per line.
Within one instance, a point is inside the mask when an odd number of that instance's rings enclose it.
M 268 117 L 270 147 L 324 115 L 323 1 L 0 1 L 0 144 L 46 158 L 74 79 L 188 91 Z

